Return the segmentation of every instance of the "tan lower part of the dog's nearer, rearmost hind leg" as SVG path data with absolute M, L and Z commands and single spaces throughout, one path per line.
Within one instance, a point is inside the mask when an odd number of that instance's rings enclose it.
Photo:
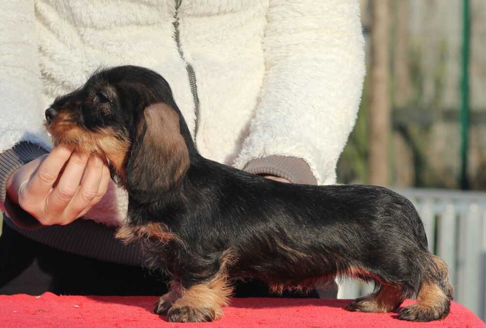
M 418 291 L 417 304 L 403 308 L 399 319 L 424 322 L 442 320 L 449 314 L 454 297 L 454 289 L 449 283 L 449 267 L 438 256 L 432 255 L 432 260 Z

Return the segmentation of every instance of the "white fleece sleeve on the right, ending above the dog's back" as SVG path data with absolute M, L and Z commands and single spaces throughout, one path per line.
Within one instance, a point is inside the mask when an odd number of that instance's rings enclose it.
M 319 184 L 352 130 L 364 79 L 357 0 L 271 0 L 260 102 L 235 166 L 271 155 L 303 158 Z

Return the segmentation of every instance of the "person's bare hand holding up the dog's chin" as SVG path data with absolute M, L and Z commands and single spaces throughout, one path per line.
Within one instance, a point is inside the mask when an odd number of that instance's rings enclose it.
M 101 200 L 109 179 L 101 158 L 59 146 L 12 174 L 7 196 L 43 225 L 69 224 Z

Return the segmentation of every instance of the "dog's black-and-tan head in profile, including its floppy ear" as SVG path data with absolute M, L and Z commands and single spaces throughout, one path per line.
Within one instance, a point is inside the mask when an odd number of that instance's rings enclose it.
M 129 193 L 171 188 L 195 152 L 167 81 L 156 72 L 121 66 L 95 72 L 46 110 L 54 145 L 99 155 Z

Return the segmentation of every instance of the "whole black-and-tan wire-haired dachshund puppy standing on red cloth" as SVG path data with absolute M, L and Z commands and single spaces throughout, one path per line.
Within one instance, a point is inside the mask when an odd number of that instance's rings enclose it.
M 375 186 L 285 184 L 198 154 L 168 83 L 136 66 L 104 69 L 46 110 L 54 144 L 100 155 L 128 191 L 117 234 L 139 241 L 171 277 L 155 312 L 173 322 L 217 320 L 235 279 L 308 290 L 335 276 L 375 283 L 348 311 L 444 319 L 449 269 L 427 248 L 406 198 Z

